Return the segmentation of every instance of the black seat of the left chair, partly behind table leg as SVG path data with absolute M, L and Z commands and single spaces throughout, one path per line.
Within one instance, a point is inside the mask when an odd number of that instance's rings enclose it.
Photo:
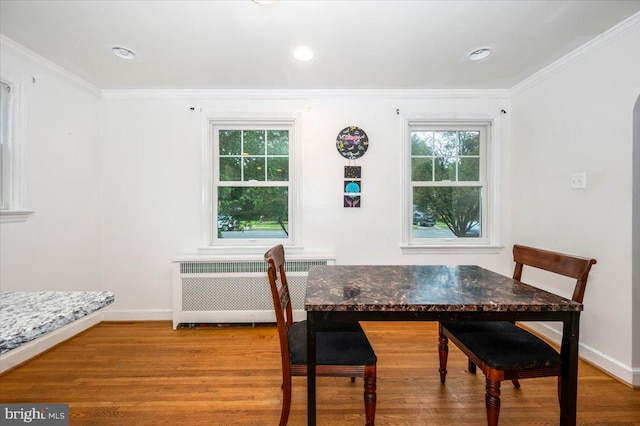
M 291 364 L 306 365 L 307 322 L 293 324 L 288 335 Z M 357 322 L 320 323 L 316 332 L 316 348 L 316 365 L 374 365 L 377 362 L 376 354 Z

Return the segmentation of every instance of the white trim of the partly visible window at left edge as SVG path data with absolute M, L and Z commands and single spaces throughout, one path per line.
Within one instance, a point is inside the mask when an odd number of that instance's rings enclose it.
M 0 76 L 0 80 L 11 88 L 9 101 L 9 134 L 6 150 L 3 153 L 3 188 L 6 194 L 7 208 L 0 209 L 0 223 L 24 222 L 34 213 L 26 205 L 25 178 L 25 134 L 26 105 L 25 84 L 16 83 L 16 79 Z

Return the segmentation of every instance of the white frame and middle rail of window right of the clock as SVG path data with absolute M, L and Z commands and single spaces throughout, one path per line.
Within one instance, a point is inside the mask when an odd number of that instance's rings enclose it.
M 413 188 L 411 179 L 411 132 L 420 128 L 429 130 L 455 129 L 469 130 L 483 129 L 485 140 L 481 142 L 480 182 L 482 187 L 482 235 L 478 238 L 413 238 Z M 404 120 L 403 136 L 403 211 L 402 211 L 402 244 L 404 254 L 414 253 L 456 253 L 456 252 L 499 252 L 503 247 L 499 243 L 499 192 L 498 192 L 498 164 L 499 164 L 499 116 L 479 115 L 468 117 L 447 116 L 407 116 Z M 416 186 L 468 186 L 464 182 L 432 182 Z

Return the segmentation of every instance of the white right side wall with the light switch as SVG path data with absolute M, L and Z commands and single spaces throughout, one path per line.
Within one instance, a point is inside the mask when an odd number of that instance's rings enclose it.
M 513 238 L 598 260 L 584 299 L 580 354 L 628 382 L 639 27 L 523 84 L 512 99 Z M 586 172 L 586 189 L 570 189 L 576 172 Z

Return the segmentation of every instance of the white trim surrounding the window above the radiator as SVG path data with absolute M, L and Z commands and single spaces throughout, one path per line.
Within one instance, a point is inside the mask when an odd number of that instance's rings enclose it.
M 301 205 L 302 205 L 302 176 L 300 167 L 300 144 L 301 144 L 301 115 L 299 113 L 202 113 L 202 243 L 198 251 L 203 254 L 264 254 L 264 252 L 274 244 L 284 244 L 289 253 L 302 251 L 299 245 L 302 239 L 301 230 Z M 213 244 L 213 138 L 211 129 L 213 124 L 234 124 L 238 125 L 272 125 L 283 123 L 290 125 L 292 134 L 289 145 L 289 182 L 290 182 L 290 217 L 289 238 L 269 240 L 224 240 L 220 244 Z

